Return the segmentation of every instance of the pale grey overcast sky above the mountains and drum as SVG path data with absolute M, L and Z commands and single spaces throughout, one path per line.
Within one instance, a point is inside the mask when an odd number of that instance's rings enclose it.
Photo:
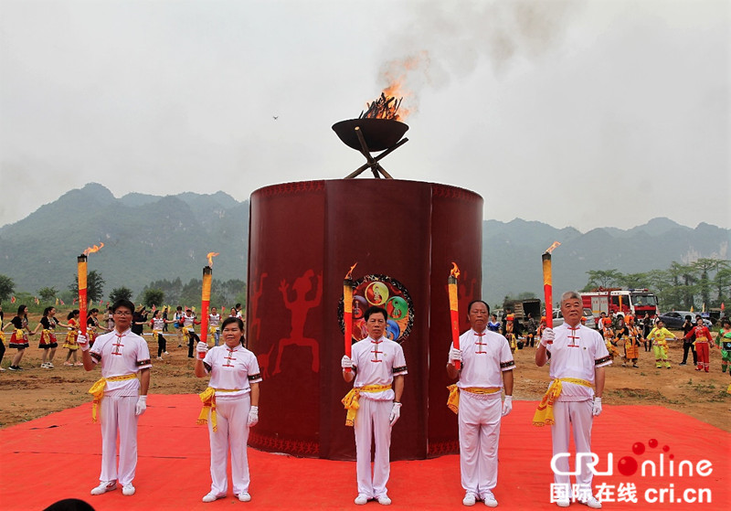
M 486 219 L 731 228 L 730 10 L 0 0 L 0 226 L 92 181 L 245 200 L 342 178 L 365 160 L 331 125 L 400 77 L 396 178 L 471 189 Z

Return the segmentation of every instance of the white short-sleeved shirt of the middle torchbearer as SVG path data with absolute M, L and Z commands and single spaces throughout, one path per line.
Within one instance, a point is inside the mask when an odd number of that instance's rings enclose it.
M 375 340 L 368 336 L 358 341 L 351 350 L 351 359 L 355 367 L 353 385 L 356 388 L 366 385 L 391 385 L 395 376 L 408 374 L 403 348 L 386 337 Z M 393 389 L 360 394 L 361 399 L 376 401 L 390 401 L 395 396 Z

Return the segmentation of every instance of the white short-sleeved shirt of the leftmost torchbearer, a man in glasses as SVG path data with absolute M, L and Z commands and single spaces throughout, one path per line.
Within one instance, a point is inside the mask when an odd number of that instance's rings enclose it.
M 141 336 L 132 334 L 130 329 L 122 334 L 112 330 L 98 336 L 89 349 L 89 355 L 94 364 L 101 364 L 103 378 L 126 376 L 153 367 L 147 343 Z M 104 387 L 106 396 L 136 396 L 139 393 L 140 380 L 137 378 L 107 381 Z

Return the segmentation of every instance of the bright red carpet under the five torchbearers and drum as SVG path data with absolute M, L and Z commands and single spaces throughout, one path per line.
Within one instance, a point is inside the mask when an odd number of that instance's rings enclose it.
M 196 426 L 200 410 L 196 395 L 151 396 L 140 420 L 139 461 L 134 484 L 137 495 L 125 497 L 120 490 L 91 496 L 97 484 L 101 459 L 99 426 L 90 421 L 90 404 L 64 410 L 36 421 L 0 431 L 0 506 L 3 509 L 43 509 L 63 498 L 80 498 L 98 510 L 106 509 L 222 509 L 229 506 L 258 509 L 362 509 L 355 506 L 355 463 L 299 459 L 249 449 L 252 500 L 239 503 L 233 496 L 203 504 L 210 479 L 208 473 L 207 428 Z M 536 402 L 516 401 L 513 412 L 503 420 L 500 441 L 500 474 L 495 496 L 501 509 L 557 509 L 548 503 L 553 482 L 551 440 L 547 428 L 531 426 Z M 719 405 L 721 406 L 721 405 Z M 408 405 L 404 412 L 408 413 Z M 266 413 L 262 409 L 262 413 Z M 456 417 L 455 417 L 456 420 Z M 396 426 L 398 427 L 398 425 Z M 597 470 L 607 471 L 608 454 L 613 455 L 613 474 L 599 475 L 594 484 L 606 484 L 615 502 L 605 509 L 721 509 L 729 491 L 729 440 L 731 434 L 701 421 L 661 407 L 605 406 L 594 422 L 594 451 L 599 454 Z M 652 440 L 657 441 L 654 445 Z M 641 443 L 645 451 L 633 454 Z M 667 451 L 663 452 L 663 447 Z M 640 471 L 623 475 L 620 459 L 631 456 L 659 465 L 664 476 Z M 670 460 L 670 456 L 673 460 Z M 705 474 L 696 474 L 702 460 L 711 463 Z M 692 477 L 677 476 L 681 461 L 693 463 Z M 671 462 L 675 475 L 669 476 Z M 630 467 L 624 460 L 622 467 Z M 573 463 L 572 463 L 573 465 Z M 688 463 L 683 469 L 687 473 Z M 658 469 L 659 470 L 659 469 Z M 625 472 L 627 472 L 625 470 Z M 622 496 L 618 488 L 635 484 L 637 503 Z M 654 492 L 667 488 L 664 503 Z M 706 489 L 707 492 L 698 492 Z M 229 489 L 230 492 L 230 489 Z M 680 502 L 683 495 L 703 493 L 712 502 Z M 464 509 L 458 456 L 391 463 L 388 495 L 393 508 Z M 629 495 L 626 495 L 629 496 Z M 668 503 L 672 496 L 675 501 Z M 726 505 L 723 503 L 726 502 Z M 482 506 L 478 503 L 477 506 Z M 588 509 L 573 504 L 574 509 Z M 373 502 L 366 509 L 380 506 Z M 480 508 L 480 507 L 477 507 Z M 482 507 L 484 508 L 484 507 Z

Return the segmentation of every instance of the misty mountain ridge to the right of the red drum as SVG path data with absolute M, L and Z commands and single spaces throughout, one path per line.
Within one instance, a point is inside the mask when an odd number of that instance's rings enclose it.
M 554 298 L 587 285 L 589 270 L 639 273 L 666 270 L 671 262 L 700 257 L 728 259 L 731 229 L 701 223 L 695 229 L 668 218 L 653 218 L 644 225 L 622 230 L 555 229 L 540 222 L 516 218 L 503 223 L 487 220 L 482 226 L 482 295 L 501 303 L 506 294 L 532 292 L 543 298 L 541 254 L 551 243 Z

